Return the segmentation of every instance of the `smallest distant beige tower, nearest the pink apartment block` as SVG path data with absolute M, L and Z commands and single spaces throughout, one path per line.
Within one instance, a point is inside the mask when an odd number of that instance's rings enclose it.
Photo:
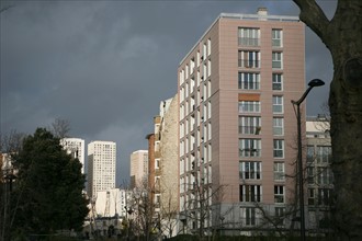
M 147 183 L 148 180 L 148 150 L 137 150 L 131 154 L 131 187 Z

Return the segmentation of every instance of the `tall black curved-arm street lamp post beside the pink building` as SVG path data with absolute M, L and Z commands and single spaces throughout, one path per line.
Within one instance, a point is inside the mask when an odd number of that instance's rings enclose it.
M 308 95 L 310 90 L 315 87 L 321 87 L 325 82 L 319 79 L 313 79 L 308 83 L 308 89 L 304 92 L 298 101 L 293 101 L 293 106 L 296 105 L 296 118 L 297 118 L 297 133 L 298 133 L 298 160 L 297 160 L 297 171 L 298 171 L 298 183 L 299 183 L 299 209 L 301 209 L 301 240 L 305 241 L 305 216 L 304 216 L 304 188 L 303 188 L 303 161 L 302 161 L 302 120 L 301 120 L 301 104 Z

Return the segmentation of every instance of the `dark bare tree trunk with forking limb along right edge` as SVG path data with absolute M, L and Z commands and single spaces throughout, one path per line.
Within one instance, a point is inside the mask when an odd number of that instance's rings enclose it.
M 362 240 L 362 1 L 339 0 L 328 21 L 315 0 L 293 0 L 333 61 L 330 84 L 335 223 L 341 240 Z

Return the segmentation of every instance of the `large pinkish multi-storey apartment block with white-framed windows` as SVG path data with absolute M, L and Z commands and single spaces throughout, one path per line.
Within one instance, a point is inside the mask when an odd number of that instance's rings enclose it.
M 283 217 L 294 202 L 291 100 L 305 90 L 304 47 L 297 16 L 222 13 L 180 62 L 183 230 L 259 233 L 271 227 L 264 215 Z

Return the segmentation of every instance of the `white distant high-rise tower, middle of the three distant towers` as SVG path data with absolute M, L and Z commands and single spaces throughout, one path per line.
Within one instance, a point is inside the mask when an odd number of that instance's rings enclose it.
M 88 195 L 115 187 L 116 144 L 92 141 L 88 145 Z

